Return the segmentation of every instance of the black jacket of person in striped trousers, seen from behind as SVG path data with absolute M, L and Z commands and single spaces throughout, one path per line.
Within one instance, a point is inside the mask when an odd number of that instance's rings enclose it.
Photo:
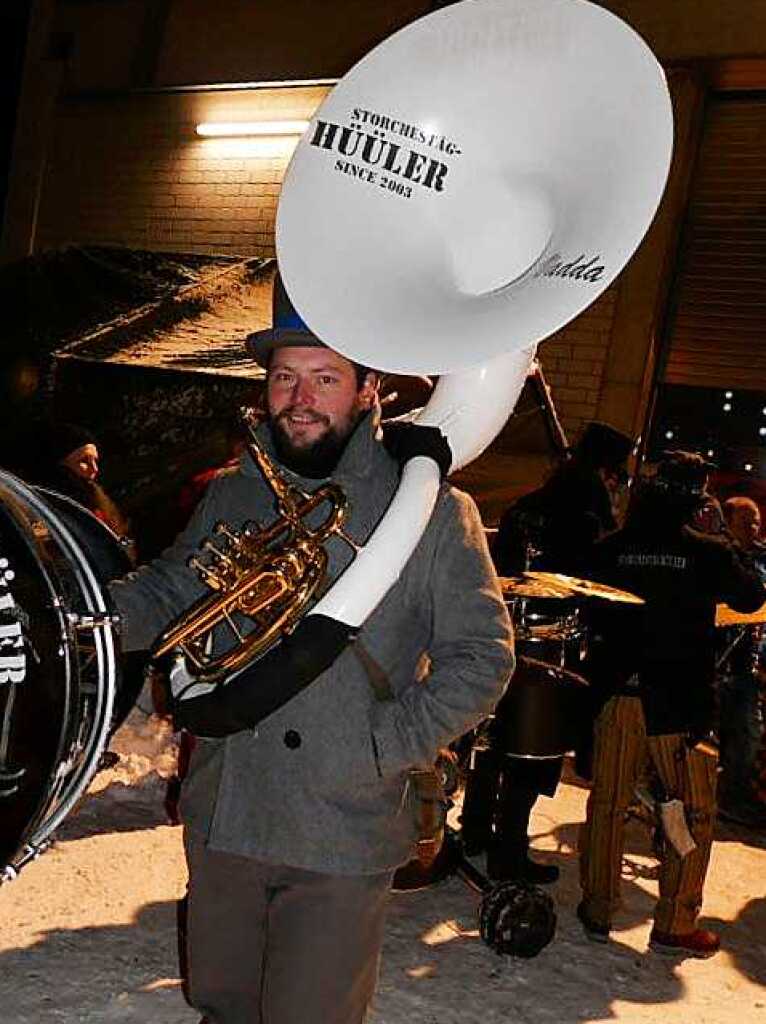
M 750 612 L 766 600 L 750 561 L 735 545 L 689 526 L 636 524 L 595 545 L 586 572 L 646 602 L 592 602 L 585 668 L 597 698 L 637 677 L 650 735 L 707 731 L 716 605 Z

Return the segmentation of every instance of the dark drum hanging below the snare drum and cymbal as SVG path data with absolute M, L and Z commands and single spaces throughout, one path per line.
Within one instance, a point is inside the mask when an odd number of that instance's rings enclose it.
M 582 676 L 522 656 L 491 719 L 490 744 L 509 757 L 560 758 L 578 745 L 587 714 Z

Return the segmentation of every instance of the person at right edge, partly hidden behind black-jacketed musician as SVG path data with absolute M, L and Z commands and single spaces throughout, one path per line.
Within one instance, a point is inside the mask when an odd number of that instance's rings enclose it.
M 761 512 L 750 498 L 729 498 L 723 515 L 728 531 L 766 580 L 766 545 L 760 540 Z M 719 816 L 737 824 L 763 827 L 766 808 L 756 800 L 756 756 L 763 734 L 758 668 L 763 657 L 763 626 L 734 626 L 723 631 L 730 649 L 718 676 L 718 735 L 721 752 Z

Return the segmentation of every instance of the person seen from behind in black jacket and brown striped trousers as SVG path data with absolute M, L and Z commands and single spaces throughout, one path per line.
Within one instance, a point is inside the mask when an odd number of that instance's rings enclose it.
M 594 602 L 585 674 L 600 696 L 593 787 L 580 838 L 588 938 L 606 942 L 619 902 L 626 812 L 644 772 L 655 799 L 680 801 L 694 847 L 666 836 L 650 947 L 711 956 L 718 936 L 697 925 L 716 813 L 717 758 L 706 742 L 714 713 L 716 605 L 751 612 L 766 598 L 735 544 L 690 523 L 707 499 L 710 465 L 667 453 L 642 480 L 625 526 L 595 545 L 588 575 L 644 599 Z M 676 808 L 678 805 L 673 805 Z

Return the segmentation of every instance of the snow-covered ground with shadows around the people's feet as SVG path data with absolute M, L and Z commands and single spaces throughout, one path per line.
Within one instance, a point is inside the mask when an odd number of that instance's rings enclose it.
M 162 808 L 172 739 L 133 713 L 113 749 L 122 761 L 96 777 L 55 847 L 0 889 L 2 1024 L 197 1024 L 176 964 L 180 829 Z M 478 937 L 478 898 L 456 878 L 397 895 L 373 1024 L 766 1024 L 766 835 L 719 829 L 705 922 L 723 951 L 675 961 L 646 949 L 655 862 L 631 824 L 625 905 L 598 946 L 574 918 L 585 799 L 571 780 L 536 808 L 538 855 L 561 867 L 552 944 L 534 961 L 497 956 Z

